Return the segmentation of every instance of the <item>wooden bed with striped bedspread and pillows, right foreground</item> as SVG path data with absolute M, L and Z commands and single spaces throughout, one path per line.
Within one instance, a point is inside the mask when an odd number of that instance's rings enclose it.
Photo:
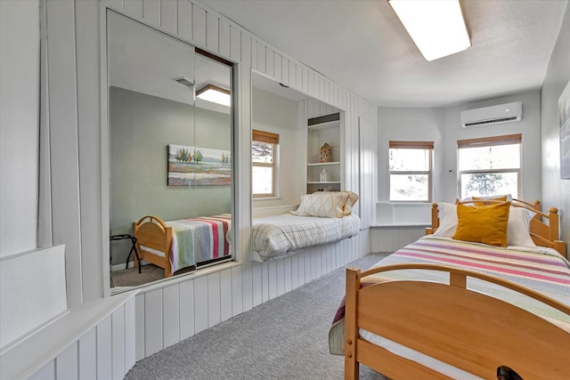
M 489 207 L 502 216 L 468 224 L 465 213 Z M 491 379 L 504 366 L 524 379 L 568 378 L 570 263 L 558 210 L 536 208 L 434 204 L 433 235 L 369 271 L 348 269 L 329 336 L 330 352 L 345 355 L 345 378 L 358 378 L 359 363 L 395 379 Z M 507 244 L 460 240 L 466 225 L 484 235 L 506 228 Z

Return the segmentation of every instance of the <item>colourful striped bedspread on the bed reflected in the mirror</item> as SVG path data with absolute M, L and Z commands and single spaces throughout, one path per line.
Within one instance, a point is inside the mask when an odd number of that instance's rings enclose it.
M 200 216 L 166 222 L 173 229 L 170 263 L 172 271 L 231 255 L 226 238 L 232 215 Z

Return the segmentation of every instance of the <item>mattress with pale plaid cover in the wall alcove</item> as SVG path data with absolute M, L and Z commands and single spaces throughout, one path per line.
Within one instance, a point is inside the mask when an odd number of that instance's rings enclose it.
M 265 262 L 291 251 L 352 238 L 360 230 L 360 218 L 319 218 L 281 214 L 255 219 L 252 225 L 254 258 Z

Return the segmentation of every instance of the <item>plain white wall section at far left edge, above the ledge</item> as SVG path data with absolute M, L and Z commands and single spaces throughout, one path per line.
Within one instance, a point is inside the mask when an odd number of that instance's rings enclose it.
M 37 247 L 39 1 L 0 1 L 0 257 Z

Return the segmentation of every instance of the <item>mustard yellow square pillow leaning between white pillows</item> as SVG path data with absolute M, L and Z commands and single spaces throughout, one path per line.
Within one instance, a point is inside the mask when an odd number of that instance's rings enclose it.
M 457 205 L 457 229 L 453 239 L 507 247 L 510 202 L 490 206 Z

